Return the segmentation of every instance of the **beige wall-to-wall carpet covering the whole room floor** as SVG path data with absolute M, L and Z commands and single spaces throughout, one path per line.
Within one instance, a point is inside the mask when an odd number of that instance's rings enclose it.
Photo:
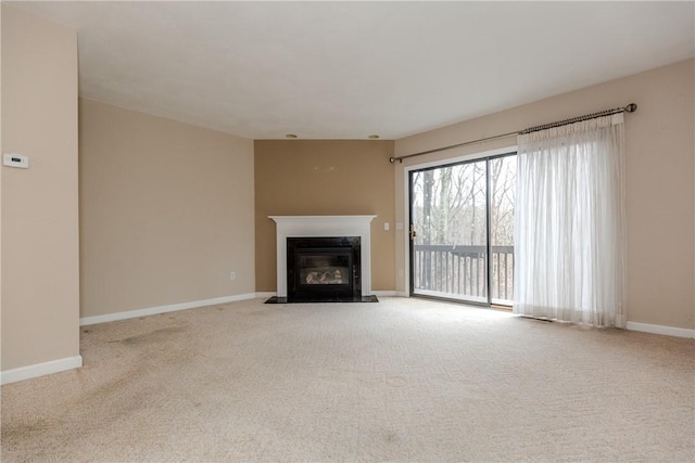
M 2 461 L 695 460 L 695 342 L 407 298 L 84 326 Z

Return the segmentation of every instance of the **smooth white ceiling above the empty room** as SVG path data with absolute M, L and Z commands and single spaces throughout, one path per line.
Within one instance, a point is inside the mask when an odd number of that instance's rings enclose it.
M 80 95 L 250 139 L 399 139 L 695 55 L 693 1 L 20 3 L 77 29 Z

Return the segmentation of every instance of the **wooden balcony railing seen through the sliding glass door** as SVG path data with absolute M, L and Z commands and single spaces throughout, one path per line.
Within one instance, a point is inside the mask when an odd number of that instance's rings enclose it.
M 425 244 L 414 246 L 415 290 L 486 298 L 486 246 Z M 514 246 L 492 246 L 492 299 L 514 298 Z

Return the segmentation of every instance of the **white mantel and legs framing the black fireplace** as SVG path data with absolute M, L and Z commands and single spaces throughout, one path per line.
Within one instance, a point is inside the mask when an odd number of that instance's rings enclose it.
M 377 216 L 268 216 L 277 223 L 278 297 L 287 297 L 287 239 L 359 236 L 362 295 L 371 295 L 371 221 Z

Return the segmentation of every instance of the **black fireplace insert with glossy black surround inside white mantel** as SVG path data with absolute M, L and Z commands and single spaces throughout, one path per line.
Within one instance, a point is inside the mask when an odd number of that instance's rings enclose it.
M 288 237 L 287 298 L 362 298 L 359 236 Z

